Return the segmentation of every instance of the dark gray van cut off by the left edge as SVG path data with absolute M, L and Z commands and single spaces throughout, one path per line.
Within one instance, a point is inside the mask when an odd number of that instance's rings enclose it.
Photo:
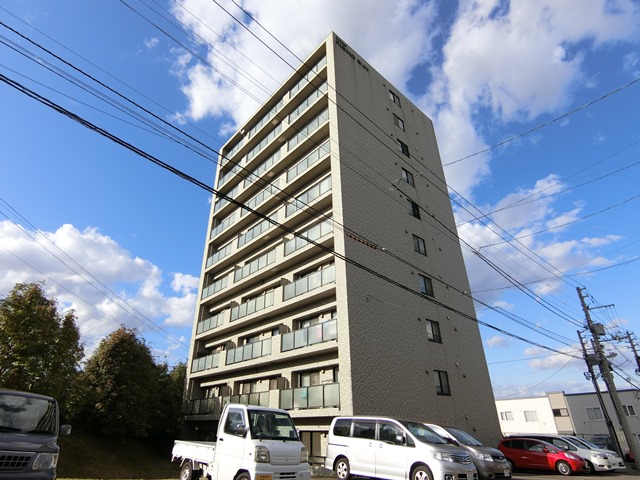
M 0 479 L 55 479 L 57 439 L 69 433 L 54 398 L 0 390 Z

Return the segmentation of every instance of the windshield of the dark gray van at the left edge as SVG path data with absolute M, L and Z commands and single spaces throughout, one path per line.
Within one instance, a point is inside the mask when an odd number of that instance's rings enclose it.
M 19 394 L 0 394 L 0 432 L 54 435 L 56 423 L 55 402 Z

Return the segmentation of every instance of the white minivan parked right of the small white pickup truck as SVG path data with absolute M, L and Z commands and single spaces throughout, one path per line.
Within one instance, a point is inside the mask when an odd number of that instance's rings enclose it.
M 387 417 L 336 417 L 325 467 L 339 480 L 351 475 L 390 480 L 477 480 L 469 454 L 423 423 Z

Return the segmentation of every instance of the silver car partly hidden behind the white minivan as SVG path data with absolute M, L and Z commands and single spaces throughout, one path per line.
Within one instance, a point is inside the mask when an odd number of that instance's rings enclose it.
M 500 450 L 485 447 L 473 435 L 460 428 L 443 427 L 433 423 L 427 423 L 427 426 L 448 442 L 467 450 L 478 470 L 478 476 L 483 480 L 511 478 L 511 465 Z

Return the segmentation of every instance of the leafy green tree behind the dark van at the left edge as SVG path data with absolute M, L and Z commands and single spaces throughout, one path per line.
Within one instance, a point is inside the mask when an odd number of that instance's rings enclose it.
M 0 385 L 55 397 L 63 415 L 84 350 L 75 312 L 62 315 L 44 283 L 18 283 L 0 299 Z

